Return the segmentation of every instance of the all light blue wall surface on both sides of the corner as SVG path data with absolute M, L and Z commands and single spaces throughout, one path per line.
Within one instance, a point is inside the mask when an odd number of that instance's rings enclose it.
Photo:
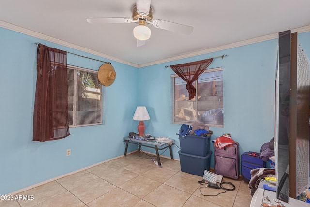
M 176 133 L 180 125 L 171 124 L 173 72 L 165 65 L 227 54 L 209 66 L 223 68 L 224 84 L 224 127 L 211 127 L 212 139 L 231 133 L 240 143 L 241 154 L 259 151 L 273 137 L 277 39 L 138 69 L 3 28 L 0 37 L 0 195 L 121 156 L 123 137 L 137 131 L 138 121 L 132 120 L 137 105 L 145 105 L 151 117 L 145 121 L 146 133 L 173 138 L 179 146 Z M 310 57 L 310 32 L 299 37 Z M 117 76 L 111 86 L 105 87 L 104 125 L 70 128 L 71 135 L 61 140 L 32 141 L 35 42 L 112 63 Z M 93 70 L 102 64 L 70 54 L 67 61 Z M 71 149 L 71 156 L 65 155 L 66 149 Z M 176 159 L 178 150 L 173 147 Z M 164 155 L 169 156 L 169 151 Z

